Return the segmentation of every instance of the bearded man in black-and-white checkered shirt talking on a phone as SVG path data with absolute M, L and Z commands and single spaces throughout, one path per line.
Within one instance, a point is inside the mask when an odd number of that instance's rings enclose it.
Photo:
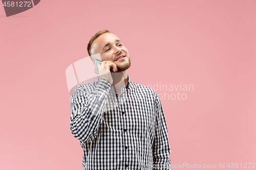
M 101 30 L 88 43 L 88 53 L 93 61 L 96 54 L 102 59 L 99 81 L 78 86 L 70 101 L 70 127 L 83 148 L 83 169 L 170 169 L 161 102 L 154 90 L 130 80 L 122 41 Z

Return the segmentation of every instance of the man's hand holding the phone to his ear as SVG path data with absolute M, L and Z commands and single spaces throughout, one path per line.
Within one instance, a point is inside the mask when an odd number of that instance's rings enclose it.
M 107 82 L 113 83 L 113 79 L 110 72 L 110 67 L 113 67 L 113 71 L 117 71 L 116 64 L 111 61 L 102 61 L 98 63 L 99 77 L 100 79 L 105 79 Z

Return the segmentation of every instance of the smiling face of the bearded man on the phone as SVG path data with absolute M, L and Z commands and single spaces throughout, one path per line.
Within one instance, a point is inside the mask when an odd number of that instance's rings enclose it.
M 100 54 L 102 61 L 112 61 L 117 65 L 117 72 L 124 71 L 131 66 L 128 50 L 122 41 L 112 33 L 100 35 L 92 43 L 93 54 Z

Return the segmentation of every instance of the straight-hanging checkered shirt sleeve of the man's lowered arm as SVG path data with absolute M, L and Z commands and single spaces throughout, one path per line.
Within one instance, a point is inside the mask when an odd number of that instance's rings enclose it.
M 153 145 L 154 166 L 156 168 L 170 169 L 170 146 L 168 143 L 168 130 L 161 101 L 156 94 L 156 131 Z

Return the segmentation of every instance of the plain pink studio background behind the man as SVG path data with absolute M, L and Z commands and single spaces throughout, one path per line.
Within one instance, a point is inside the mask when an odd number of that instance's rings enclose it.
M 161 100 L 172 164 L 256 163 L 255 9 L 254 0 L 41 1 L 6 17 L 0 6 L 0 169 L 82 169 L 65 70 L 101 29 L 129 50 L 133 82 L 194 85 L 166 91 L 186 100 Z

